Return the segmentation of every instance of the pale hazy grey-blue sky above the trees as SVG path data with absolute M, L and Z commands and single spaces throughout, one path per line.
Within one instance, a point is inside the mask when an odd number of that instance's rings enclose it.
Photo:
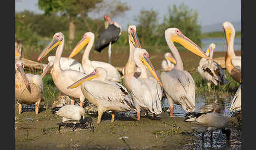
M 241 1 L 240 0 L 120 0 L 126 2 L 131 9 L 125 12 L 124 16 L 113 19 L 118 22 L 123 29 L 130 24 L 136 24 L 134 16 L 139 15 L 141 9 L 149 10 L 153 8 L 159 13 L 159 22 L 161 23 L 164 15 L 168 13 L 168 6 L 175 4 L 179 6 L 182 2 L 199 13 L 199 23 L 202 26 L 222 23 L 225 21 L 241 21 Z M 38 10 L 37 0 L 18 0 L 15 3 L 16 12 L 24 9 L 31 10 L 35 13 L 43 13 Z M 92 16 L 93 14 L 90 14 Z M 103 14 L 102 14 L 103 15 Z M 102 17 L 103 18 L 103 17 Z

